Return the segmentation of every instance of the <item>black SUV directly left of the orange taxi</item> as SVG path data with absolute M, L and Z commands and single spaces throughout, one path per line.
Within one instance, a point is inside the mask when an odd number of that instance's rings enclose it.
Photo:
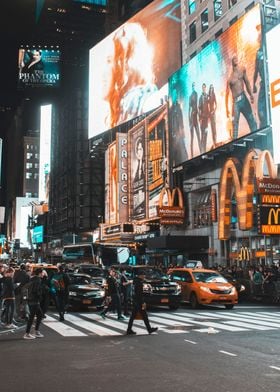
M 115 266 L 117 269 L 118 267 Z M 168 306 L 169 309 L 176 310 L 181 303 L 181 287 L 174 282 L 161 269 L 149 265 L 121 266 L 119 270 L 125 268 L 129 279 L 135 276 L 143 276 L 143 294 L 146 305 Z

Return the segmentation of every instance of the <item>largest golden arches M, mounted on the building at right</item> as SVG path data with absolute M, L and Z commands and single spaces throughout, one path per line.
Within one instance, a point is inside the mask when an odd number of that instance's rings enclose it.
M 245 157 L 243 167 L 236 158 L 229 158 L 226 161 L 220 181 L 220 240 L 226 240 L 230 237 L 231 204 L 234 191 L 239 229 L 250 230 L 253 227 L 254 181 L 264 177 L 265 163 L 270 178 L 277 178 L 277 166 L 268 150 L 250 150 Z

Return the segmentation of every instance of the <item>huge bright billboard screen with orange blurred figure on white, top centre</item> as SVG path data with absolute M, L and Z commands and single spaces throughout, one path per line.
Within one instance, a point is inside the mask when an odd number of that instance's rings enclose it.
M 180 0 L 155 0 L 90 50 L 89 138 L 166 101 L 180 40 Z

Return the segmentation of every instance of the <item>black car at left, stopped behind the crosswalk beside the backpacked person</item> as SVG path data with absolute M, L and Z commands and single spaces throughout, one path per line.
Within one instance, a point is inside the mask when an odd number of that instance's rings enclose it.
M 105 290 L 94 283 L 87 274 L 68 273 L 70 279 L 68 303 L 74 308 L 94 306 L 101 309 L 104 306 Z

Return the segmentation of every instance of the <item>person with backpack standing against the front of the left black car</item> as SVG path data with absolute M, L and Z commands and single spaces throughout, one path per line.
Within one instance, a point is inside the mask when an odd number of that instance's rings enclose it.
M 59 321 L 64 321 L 65 305 L 68 299 L 69 276 L 65 273 L 63 265 L 58 267 L 58 272 L 51 279 L 51 293 L 55 300 Z

